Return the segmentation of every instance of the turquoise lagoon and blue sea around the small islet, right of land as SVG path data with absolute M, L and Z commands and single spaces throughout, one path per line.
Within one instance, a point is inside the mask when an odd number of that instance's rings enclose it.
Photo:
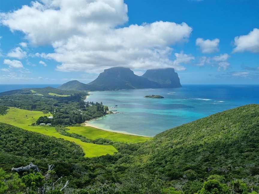
M 99 128 L 133 134 L 156 134 L 202 117 L 259 103 L 258 85 L 183 85 L 182 88 L 90 92 L 87 101 L 103 102 L 117 114 L 90 121 Z M 146 95 L 165 98 L 144 98 Z M 117 107 L 116 107 L 117 105 Z

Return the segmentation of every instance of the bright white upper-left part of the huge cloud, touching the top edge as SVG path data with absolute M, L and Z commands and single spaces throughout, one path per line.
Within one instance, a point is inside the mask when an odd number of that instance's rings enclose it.
M 41 45 L 124 24 L 127 12 L 122 0 L 43 0 L 42 4 L 32 1 L 31 6 L 1 13 L 0 19 L 11 31 L 22 31 L 31 43 Z

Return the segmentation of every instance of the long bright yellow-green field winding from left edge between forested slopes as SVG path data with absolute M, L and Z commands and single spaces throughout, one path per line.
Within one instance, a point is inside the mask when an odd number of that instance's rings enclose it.
M 51 116 L 50 113 L 44 114 L 41 111 L 30 111 L 13 107 L 10 107 L 10 109 L 8 109 L 7 111 L 7 114 L 0 115 L 0 122 L 14 125 L 28 131 L 38 132 L 44 135 L 63 138 L 64 140 L 75 142 L 83 148 L 85 152 L 85 157 L 96 157 L 117 152 L 117 150 L 112 145 L 85 143 L 79 139 L 61 135 L 56 132 L 54 127 L 29 126 L 32 122 L 35 122 L 40 116 Z

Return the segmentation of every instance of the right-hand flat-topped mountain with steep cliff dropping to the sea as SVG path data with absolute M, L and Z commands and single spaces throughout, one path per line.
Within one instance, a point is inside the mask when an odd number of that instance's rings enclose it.
M 182 87 L 174 68 L 148 69 L 141 77 L 161 84 L 161 88 Z

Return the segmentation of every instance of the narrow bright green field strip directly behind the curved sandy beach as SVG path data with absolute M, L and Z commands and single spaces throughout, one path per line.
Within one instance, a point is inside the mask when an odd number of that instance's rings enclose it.
M 124 143 L 138 143 L 150 140 L 151 137 L 143 137 L 143 136 L 136 136 L 136 135 L 128 135 L 122 133 L 115 133 L 111 131 L 104 131 L 101 129 L 93 128 L 93 127 L 67 127 L 70 130 L 67 130 L 69 133 L 76 133 L 80 134 L 84 137 L 87 137 L 91 140 L 95 140 L 98 138 L 109 139 L 112 141 L 119 141 Z

